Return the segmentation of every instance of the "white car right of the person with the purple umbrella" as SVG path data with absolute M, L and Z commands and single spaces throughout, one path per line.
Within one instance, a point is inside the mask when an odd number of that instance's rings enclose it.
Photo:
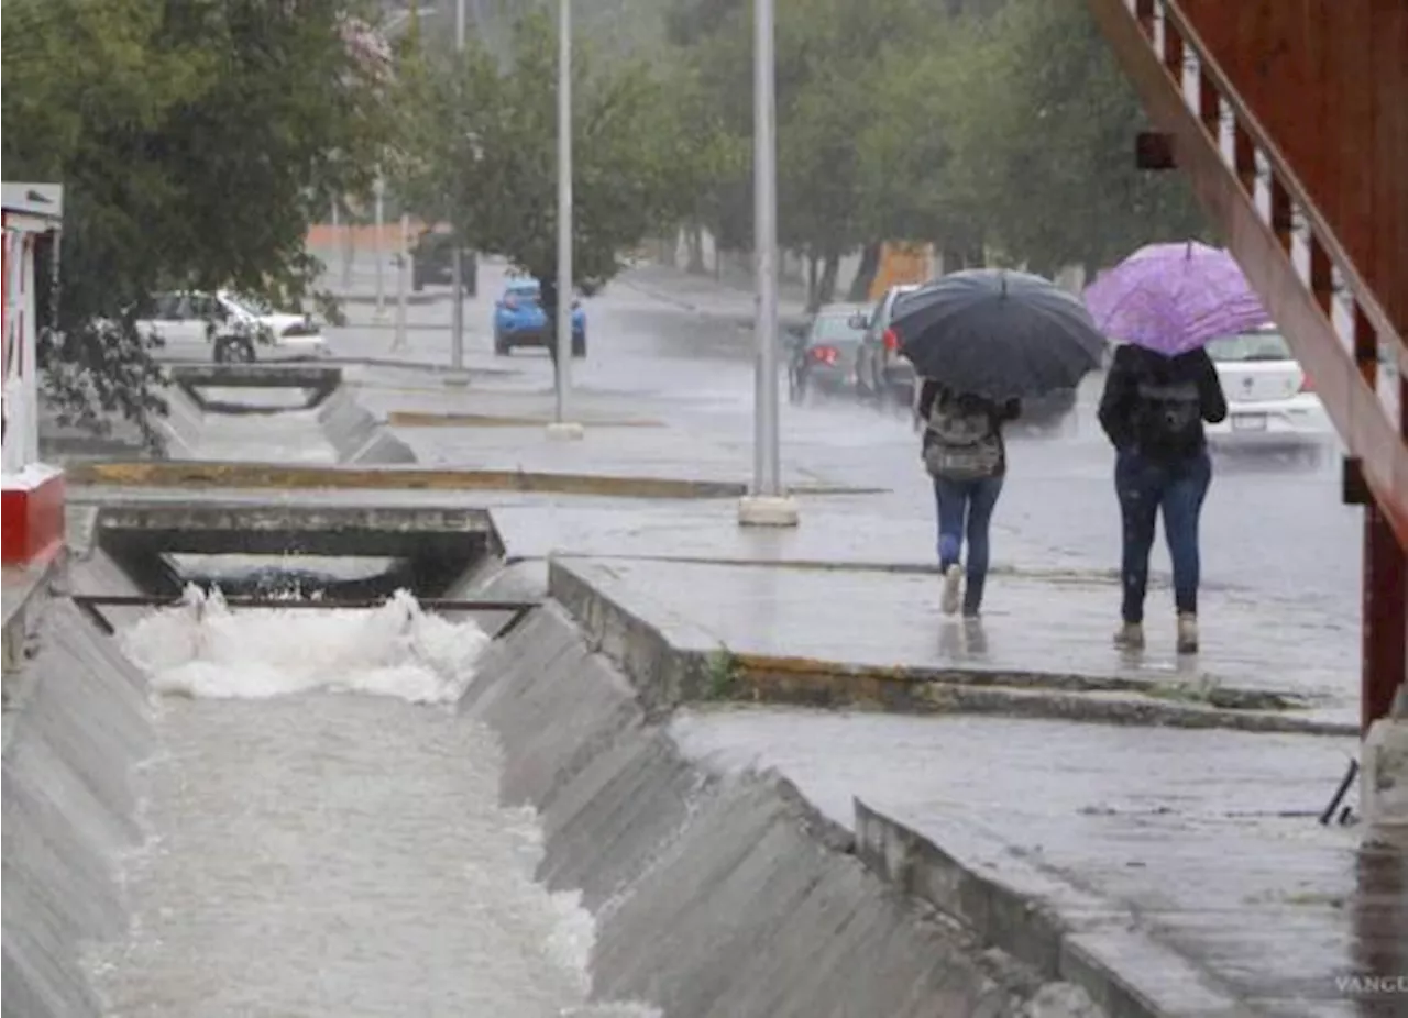
M 1208 356 L 1228 400 L 1226 420 L 1207 427 L 1214 449 L 1288 452 L 1312 463 L 1324 458 L 1333 427 L 1280 331 L 1214 339 Z

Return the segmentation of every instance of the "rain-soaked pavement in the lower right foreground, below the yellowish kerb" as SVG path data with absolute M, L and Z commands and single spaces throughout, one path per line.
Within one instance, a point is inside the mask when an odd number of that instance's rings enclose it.
M 1157 980 L 1132 960 L 1149 941 L 1257 1014 L 1405 1012 L 1408 866 L 1316 819 L 1356 739 L 762 708 L 673 732 L 721 769 L 777 769 L 848 827 L 859 797 L 970 872 L 1049 886 L 1131 974 Z M 1354 1000 L 1370 976 L 1400 995 Z

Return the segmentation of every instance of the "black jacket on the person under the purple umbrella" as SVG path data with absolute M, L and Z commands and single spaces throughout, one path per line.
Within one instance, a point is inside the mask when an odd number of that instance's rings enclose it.
M 1177 448 L 1148 448 L 1142 441 L 1139 421 L 1143 397 L 1140 384 L 1177 386 L 1193 383 L 1198 393 L 1201 420 Z M 1105 376 L 1105 394 L 1100 400 L 1100 427 L 1117 449 L 1138 449 L 1159 459 L 1193 456 L 1207 448 L 1202 422 L 1226 420 L 1228 401 L 1212 358 L 1204 349 L 1166 358 L 1142 346 L 1126 344 L 1115 349 L 1114 363 Z

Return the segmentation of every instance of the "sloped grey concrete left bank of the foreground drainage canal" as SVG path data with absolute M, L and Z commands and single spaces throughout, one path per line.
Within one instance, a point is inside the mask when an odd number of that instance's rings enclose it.
M 0 1018 L 97 1018 L 82 950 L 127 929 L 114 862 L 153 732 L 141 674 L 70 601 L 38 635 L 0 714 Z

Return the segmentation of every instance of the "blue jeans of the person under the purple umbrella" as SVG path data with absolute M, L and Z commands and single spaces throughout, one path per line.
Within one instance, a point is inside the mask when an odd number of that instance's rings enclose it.
M 1207 451 L 1187 459 L 1162 462 L 1135 449 L 1121 449 L 1115 459 L 1115 493 L 1124 517 L 1122 614 L 1126 622 L 1143 621 L 1149 589 L 1149 552 L 1155 521 L 1163 511 L 1163 534 L 1173 560 L 1173 598 L 1180 612 L 1198 611 L 1198 517 L 1212 483 Z

